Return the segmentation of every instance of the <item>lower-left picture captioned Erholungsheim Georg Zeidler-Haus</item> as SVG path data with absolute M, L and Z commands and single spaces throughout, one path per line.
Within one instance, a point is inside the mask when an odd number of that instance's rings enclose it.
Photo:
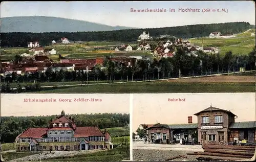
M 129 95 L 116 98 L 2 94 L 1 160 L 130 160 Z

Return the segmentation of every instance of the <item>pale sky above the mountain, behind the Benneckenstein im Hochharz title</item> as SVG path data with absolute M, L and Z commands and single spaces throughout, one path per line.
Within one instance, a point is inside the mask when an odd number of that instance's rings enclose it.
M 169 9 L 175 12 L 169 12 Z M 200 12 L 179 12 L 199 9 Z M 138 13 L 131 9 L 166 9 L 166 12 Z M 210 9 L 210 12 L 202 12 Z M 228 12 L 212 12 L 226 9 Z M 253 1 L 176 1 L 176 2 L 2 2 L 1 17 L 53 16 L 86 20 L 109 26 L 160 28 L 195 24 L 246 21 L 255 25 Z

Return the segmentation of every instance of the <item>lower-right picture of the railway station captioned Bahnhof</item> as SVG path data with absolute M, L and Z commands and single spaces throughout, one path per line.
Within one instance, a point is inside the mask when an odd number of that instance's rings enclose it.
M 255 93 L 134 94 L 134 161 L 255 160 Z

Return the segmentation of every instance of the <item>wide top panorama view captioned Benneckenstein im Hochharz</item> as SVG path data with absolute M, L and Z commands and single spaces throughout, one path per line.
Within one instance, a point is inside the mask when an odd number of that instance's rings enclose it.
M 2 2 L 0 10 L 2 93 L 255 91 L 253 1 Z

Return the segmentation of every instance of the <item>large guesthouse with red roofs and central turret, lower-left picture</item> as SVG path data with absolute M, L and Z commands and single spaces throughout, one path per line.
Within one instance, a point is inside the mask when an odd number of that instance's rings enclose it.
M 29 128 L 15 140 L 16 151 L 64 151 L 112 149 L 111 136 L 98 127 L 77 127 L 74 119 L 61 115 L 48 128 Z

